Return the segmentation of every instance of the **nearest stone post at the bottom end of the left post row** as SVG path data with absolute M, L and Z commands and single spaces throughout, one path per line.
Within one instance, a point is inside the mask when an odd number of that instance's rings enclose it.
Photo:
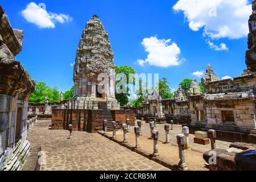
M 188 167 L 185 162 L 185 135 L 184 134 L 179 134 L 177 135 L 177 144 L 179 146 L 179 157 L 180 157 L 180 162 L 178 164 L 178 167 L 181 171 L 187 171 Z

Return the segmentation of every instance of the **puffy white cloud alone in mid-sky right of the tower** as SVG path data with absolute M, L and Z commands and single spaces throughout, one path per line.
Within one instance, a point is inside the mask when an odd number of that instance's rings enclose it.
M 158 39 L 156 36 L 144 38 L 142 45 L 145 51 L 148 52 L 147 59 L 137 60 L 141 66 L 144 64 L 154 65 L 156 67 L 170 67 L 180 65 L 184 59 L 180 59 L 180 48 L 176 43 L 171 42 L 171 39 Z

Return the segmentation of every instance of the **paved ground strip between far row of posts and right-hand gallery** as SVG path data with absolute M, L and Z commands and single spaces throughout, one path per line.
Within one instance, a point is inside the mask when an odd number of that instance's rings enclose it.
M 170 128 L 171 128 L 171 125 L 170 125 Z M 165 140 L 166 140 L 166 131 L 164 131 L 164 125 L 156 124 L 155 129 L 159 131 L 159 140 L 162 141 L 162 142 L 165 142 Z M 171 144 L 174 144 L 176 146 L 177 145 L 176 136 L 177 136 L 177 134 L 182 133 L 182 126 L 181 125 L 174 125 L 173 129 L 174 130 L 170 130 L 170 142 L 171 142 Z M 134 133 L 134 127 L 131 127 L 131 131 Z M 142 125 L 142 135 L 144 135 L 145 137 L 150 137 L 150 126 L 149 126 L 148 123 L 143 123 L 143 125 Z M 191 150 L 199 151 L 199 152 L 203 152 L 203 153 L 211 150 L 210 144 L 204 146 L 202 144 L 193 143 L 193 138 L 194 137 L 195 137 L 194 135 L 189 134 L 189 142 L 190 142 L 190 145 L 191 145 Z M 217 148 L 228 149 L 229 144 L 230 144 L 230 142 L 224 142 L 224 141 L 221 141 L 221 140 L 216 140 L 216 147 Z

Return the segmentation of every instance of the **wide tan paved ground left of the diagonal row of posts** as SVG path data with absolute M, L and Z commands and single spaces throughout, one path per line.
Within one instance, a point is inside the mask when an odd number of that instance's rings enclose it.
M 48 130 L 51 121 L 38 121 L 28 140 L 33 146 L 42 146 L 46 152 L 43 171 L 147 171 L 169 170 L 119 144 L 102 137 L 81 131 Z

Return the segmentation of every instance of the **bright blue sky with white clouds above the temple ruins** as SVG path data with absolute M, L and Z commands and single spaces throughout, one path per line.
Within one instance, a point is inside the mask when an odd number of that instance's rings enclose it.
M 53 24 L 43 22 L 49 27 L 39 27 L 41 20 L 33 23 L 38 14 L 31 20 L 31 14 L 23 11 L 31 2 L 45 3 Z M 116 65 L 129 65 L 138 73 L 159 73 L 160 78 L 168 78 L 171 88 L 176 89 L 184 78 L 200 81 L 207 64 L 220 78 L 241 75 L 246 69 L 250 2 L 219 2 L 2 0 L 1 5 L 11 25 L 24 30 L 23 50 L 16 59 L 37 81 L 65 91 L 73 85 L 70 64 L 75 61 L 82 30 L 94 14 L 109 32 Z M 213 17 L 205 16 L 209 11 Z

